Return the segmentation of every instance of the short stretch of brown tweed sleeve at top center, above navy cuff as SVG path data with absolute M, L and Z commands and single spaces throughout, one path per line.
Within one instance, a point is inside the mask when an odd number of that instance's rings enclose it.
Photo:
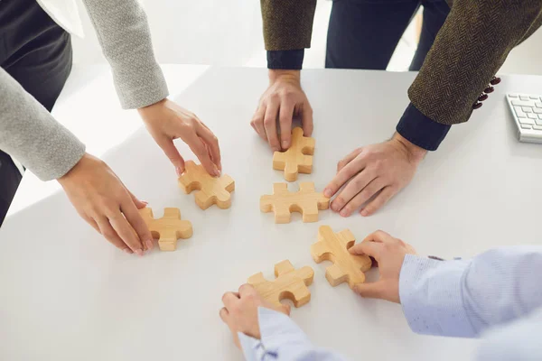
M 260 0 L 267 51 L 311 47 L 316 0 Z

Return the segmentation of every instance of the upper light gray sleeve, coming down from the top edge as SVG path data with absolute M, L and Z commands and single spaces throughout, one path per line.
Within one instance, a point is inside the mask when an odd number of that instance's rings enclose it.
M 83 0 L 111 66 L 124 108 L 154 104 L 168 96 L 143 7 L 137 0 Z

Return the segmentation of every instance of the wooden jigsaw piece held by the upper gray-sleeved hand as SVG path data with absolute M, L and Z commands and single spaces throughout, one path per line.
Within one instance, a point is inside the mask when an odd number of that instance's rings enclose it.
M 214 178 L 201 164 L 188 161 L 184 165 L 185 171 L 179 178 L 179 187 L 186 194 L 198 190 L 195 199 L 201 209 L 210 208 L 213 204 L 222 209 L 231 207 L 230 193 L 235 190 L 235 181 L 229 175 Z

